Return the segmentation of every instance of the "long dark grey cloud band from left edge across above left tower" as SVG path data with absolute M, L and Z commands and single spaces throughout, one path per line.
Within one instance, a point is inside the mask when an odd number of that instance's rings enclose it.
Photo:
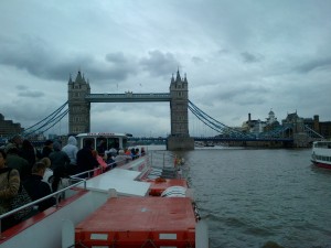
M 122 53 L 106 54 L 105 61 L 97 61 L 89 54 L 58 53 L 38 37 L 22 41 L 0 39 L 0 64 L 26 69 L 31 75 L 43 79 L 67 80 L 70 74 L 87 72 L 93 80 L 124 80 L 136 73 L 137 65 Z M 55 54 L 55 55 L 54 55 Z M 60 55 L 61 54 L 61 55 Z

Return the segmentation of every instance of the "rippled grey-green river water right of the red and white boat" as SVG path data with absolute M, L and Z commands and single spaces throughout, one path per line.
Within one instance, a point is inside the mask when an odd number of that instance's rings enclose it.
M 311 165 L 310 149 L 214 147 L 178 155 L 211 248 L 331 247 L 331 171 Z

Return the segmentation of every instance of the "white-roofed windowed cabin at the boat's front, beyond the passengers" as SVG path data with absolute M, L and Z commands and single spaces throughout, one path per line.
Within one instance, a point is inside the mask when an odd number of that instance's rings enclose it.
M 113 132 L 88 132 L 77 134 L 76 139 L 79 149 L 84 147 L 86 140 L 93 140 L 93 149 L 95 150 L 98 145 L 104 145 L 105 150 L 109 150 L 111 148 L 120 150 L 127 148 L 128 134 Z

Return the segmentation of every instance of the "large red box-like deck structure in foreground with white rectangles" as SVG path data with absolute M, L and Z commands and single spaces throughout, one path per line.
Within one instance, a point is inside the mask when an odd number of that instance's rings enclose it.
M 188 247 L 195 242 L 195 215 L 186 197 L 109 198 L 75 228 L 82 247 Z M 190 246 L 189 246 L 190 247 Z

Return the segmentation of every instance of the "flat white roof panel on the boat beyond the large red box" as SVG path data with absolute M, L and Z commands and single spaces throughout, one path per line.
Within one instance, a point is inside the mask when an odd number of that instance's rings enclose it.
M 98 176 L 86 181 L 86 188 L 108 193 L 109 188 L 115 188 L 118 195 L 122 196 L 146 196 L 148 195 L 150 183 L 135 181 L 141 172 L 128 171 L 124 169 L 113 169 Z M 83 187 L 84 185 L 82 185 Z

